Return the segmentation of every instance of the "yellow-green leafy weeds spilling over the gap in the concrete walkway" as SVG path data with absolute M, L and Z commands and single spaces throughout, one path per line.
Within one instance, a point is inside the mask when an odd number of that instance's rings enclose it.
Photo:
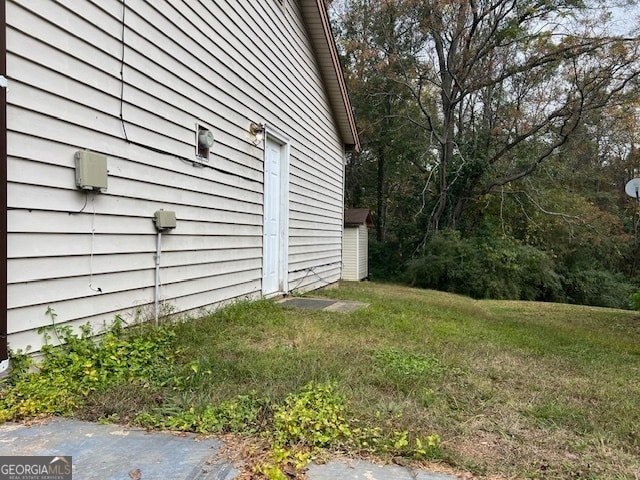
M 272 480 L 289 478 L 326 449 L 414 459 L 441 456 L 438 435 L 383 432 L 349 420 L 346 400 L 334 384 L 309 383 L 279 405 L 255 392 L 200 410 L 165 405 L 139 414 L 133 423 L 202 434 L 260 435 L 266 450 L 253 459 L 253 474 Z

